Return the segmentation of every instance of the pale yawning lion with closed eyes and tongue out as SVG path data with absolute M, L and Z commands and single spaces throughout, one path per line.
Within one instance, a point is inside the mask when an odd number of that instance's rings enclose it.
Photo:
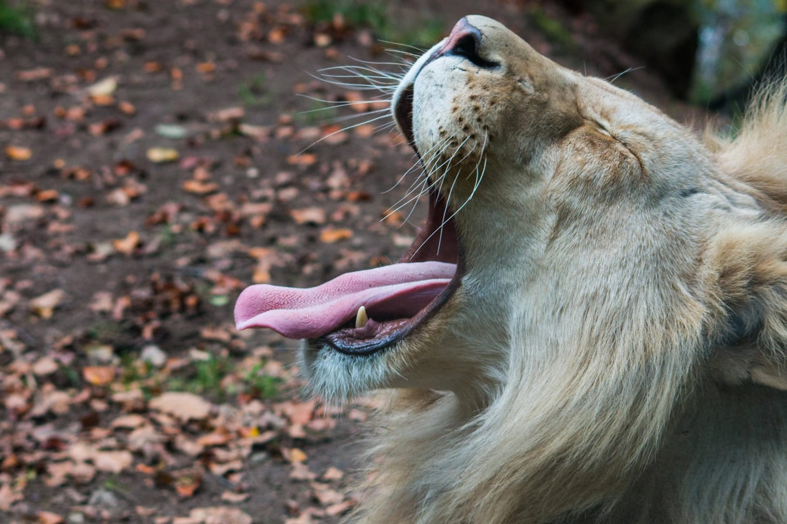
M 393 389 L 354 522 L 787 522 L 787 87 L 737 137 L 466 16 L 393 115 L 427 223 L 391 266 L 256 285 L 316 394 Z

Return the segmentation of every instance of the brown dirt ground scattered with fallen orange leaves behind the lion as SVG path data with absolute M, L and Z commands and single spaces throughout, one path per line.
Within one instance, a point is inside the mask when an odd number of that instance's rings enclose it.
M 570 41 L 528 2 L 389 3 L 399 34 L 481 13 L 588 74 L 638 65 L 549 6 Z M 232 307 L 412 242 L 423 206 L 381 220 L 412 152 L 360 115 L 386 104 L 312 76 L 412 49 L 284 2 L 37 5 L 38 42 L 0 39 L 0 521 L 338 522 L 379 398 L 301 397 L 297 344 Z M 701 118 L 648 71 L 618 83 Z

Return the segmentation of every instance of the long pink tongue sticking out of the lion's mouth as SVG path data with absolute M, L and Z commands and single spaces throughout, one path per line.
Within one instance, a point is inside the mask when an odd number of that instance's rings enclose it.
M 365 306 L 375 320 L 416 315 L 449 284 L 456 265 L 408 262 L 345 273 L 315 288 L 249 286 L 235 302 L 238 329 L 272 328 L 290 339 L 338 329 Z

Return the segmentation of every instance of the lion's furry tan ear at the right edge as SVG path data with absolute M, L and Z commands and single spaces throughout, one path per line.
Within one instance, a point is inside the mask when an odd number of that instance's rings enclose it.
M 787 228 L 736 225 L 716 235 L 705 255 L 717 376 L 787 390 Z

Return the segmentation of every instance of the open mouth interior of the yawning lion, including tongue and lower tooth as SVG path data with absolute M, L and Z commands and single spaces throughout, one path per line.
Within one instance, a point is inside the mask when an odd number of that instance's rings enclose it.
M 271 328 L 292 339 L 321 339 L 350 354 L 371 353 L 401 339 L 456 288 L 459 243 L 449 216 L 442 199 L 431 194 L 427 223 L 396 264 L 345 273 L 314 288 L 250 286 L 235 304 L 235 324 Z

